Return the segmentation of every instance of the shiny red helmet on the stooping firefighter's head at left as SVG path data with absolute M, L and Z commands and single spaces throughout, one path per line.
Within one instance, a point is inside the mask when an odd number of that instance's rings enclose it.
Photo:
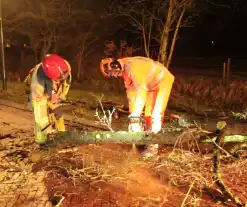
M 66 61 L 56 55 L 47 55 L 42 62 L 46 76 L 52 80 L 64 80 L 69 75 L 69 66 Z

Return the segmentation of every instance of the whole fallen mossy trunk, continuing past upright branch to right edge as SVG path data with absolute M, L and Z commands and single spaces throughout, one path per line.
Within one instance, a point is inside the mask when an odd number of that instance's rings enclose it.
M 191 141 L 199 143 L 214 143 L 216 134 L 199 131 L 196 128 L 180 128 L 177 130 L 167 130 L 157 134 L 147 132 L 126 132 L 126 131 L 94 131 L 94 132 L 59 132 L 54 136 L 57 144 L 164 144 L 174 145 L 178 141 L 180 144 L 189 143 Z M 226 135 L 223 142 L 247 142 L 247 135 Z

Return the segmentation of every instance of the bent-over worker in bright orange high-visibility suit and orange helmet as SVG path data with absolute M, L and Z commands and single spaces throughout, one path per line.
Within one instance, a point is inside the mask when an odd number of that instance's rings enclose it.
M 140 56 L 103 59 L 100 70 L 105 77 L 124 80 L 130 110 L 129 130 L 143 130 L 140 119 L 145 107 L 145 130 L 159 132 L 174 82 L 170 71 L 161 63 Z M 158 152 L 158 145 L 150 145 L 148 151 Z

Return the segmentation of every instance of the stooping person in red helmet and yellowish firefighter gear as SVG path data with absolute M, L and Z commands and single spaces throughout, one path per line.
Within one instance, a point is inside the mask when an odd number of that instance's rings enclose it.
M 43 146 L 49 134 L 65 131 L 61 105 L 70 88 L 70 64 L 57 54 L 47 55 L 31 69 L 24 82 L 30 88 L 29 106 L 34 113 L 35 141 Z

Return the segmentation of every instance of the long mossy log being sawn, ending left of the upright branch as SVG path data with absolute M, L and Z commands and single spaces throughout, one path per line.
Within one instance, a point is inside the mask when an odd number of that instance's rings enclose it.
M 201 133 L 202 134 L 202 133 Z M 205 133 L 203 133 L 205 135 Z M 147 132 L 126 132 L 126 131 L 94 131 L 94 132 L 59 132 L 54 135 L 53 140 L 56 144 L 165 144 L 174 145 L 178 139 L 181 142 L 189 142 L 194 140 L 195 136 L 200 133 L 193 129 L 164 131 L 157 134 Z

